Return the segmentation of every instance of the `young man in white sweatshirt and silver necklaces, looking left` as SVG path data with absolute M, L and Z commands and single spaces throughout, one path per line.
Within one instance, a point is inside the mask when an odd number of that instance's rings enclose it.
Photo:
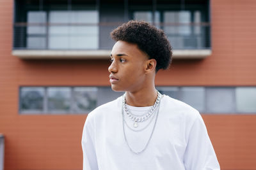
M 125 94 L 88 114 L 83 170 L 220 169 L 198 111 L 155 88 L 157 71 L 172 57 L 164 32 L 129 21 L 111 37 L 109 81 Z

